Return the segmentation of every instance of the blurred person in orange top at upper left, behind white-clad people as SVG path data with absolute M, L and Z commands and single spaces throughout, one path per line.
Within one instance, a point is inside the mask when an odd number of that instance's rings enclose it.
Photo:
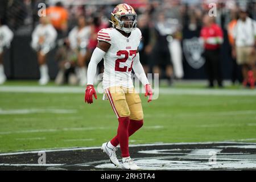
M 57 2 L 55 6 L 46 9 L 46 14 L 49 16 L 53 27 L 57 30 L 58 37 L 63 38 L 68 30 L 68 11 L 61 2 Z

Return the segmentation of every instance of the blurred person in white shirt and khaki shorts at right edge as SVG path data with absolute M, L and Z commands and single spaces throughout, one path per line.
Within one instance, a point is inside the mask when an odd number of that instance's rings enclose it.
M 237 64 L 242 65 L 243 86 L 247 85 L 249 69 L 256 78 L 255 46 L 256 46 L 256 22 L 249 18 L 246 9 L 241 9 L 239 19 L 233 31 L 233 54 L 237 57 Z M 254 83 L 253 83 L 254 84 Z

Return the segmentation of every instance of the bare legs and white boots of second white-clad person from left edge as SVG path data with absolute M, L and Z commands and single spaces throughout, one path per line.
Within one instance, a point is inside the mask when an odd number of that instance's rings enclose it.
M 40 71 L 40 85 L 46 85 L 49 81 L 48 66 L 46 64 L 46 53 L 43 51 L 38 52 L 38 63 Z

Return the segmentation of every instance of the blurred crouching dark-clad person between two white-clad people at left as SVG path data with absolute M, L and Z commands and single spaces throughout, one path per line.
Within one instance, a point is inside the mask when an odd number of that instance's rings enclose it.
M 59 72 L 55 78 L 55 84 L 62 85 L 67 82 L 70 85 L 76 85 L 78 82 L 75 72 L 77 54 L 71 49 L 68 39 L 65 39 L 62 43 L 56 52 L 56 60 L 59 62 Z

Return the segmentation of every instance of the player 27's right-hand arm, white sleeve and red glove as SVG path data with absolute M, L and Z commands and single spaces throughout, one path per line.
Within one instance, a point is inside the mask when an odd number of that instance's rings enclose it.
M 138 51 L 138 49 L 137 49 L 137 55 L 136 55 L 134 63 L 133 63 L 133 71 L 134 71 L 135 75 L 139 78 L 139 80 L 142 82 L 142 84 L 144 85 L 145 97 L 149 96 L 147 102 L 150 102 L 152 100 L 152 97 L 153 97 L 153 92 L 152 92 L 152 89 L 151 89 L 151 85 L 147 80 L 147 76 L 144 72 L 141 61 L 139 61 L 139 51 Z

